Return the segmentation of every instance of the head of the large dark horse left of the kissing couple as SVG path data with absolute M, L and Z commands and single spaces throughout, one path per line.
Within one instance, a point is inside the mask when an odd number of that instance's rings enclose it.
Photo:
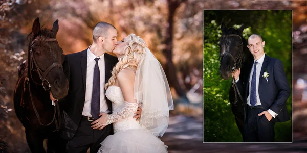
M 61 64 L 63 50 L 56 39 L 58 29 L 58 20 L 51 30 L 41 28 L 39 18 L 34 20 L 28 35 L 28 76 L 46 91 L 51 91 L 54 98 L 61 99 L 68 94 L 69 83 Z

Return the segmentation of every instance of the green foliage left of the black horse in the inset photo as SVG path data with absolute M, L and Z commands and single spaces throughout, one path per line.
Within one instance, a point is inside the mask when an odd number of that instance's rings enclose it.
M 250 34 L 250 28 L 244 35 Z M 222 36 L 221 26 L 215 20 L 204 23 L 204 142 L 240 142 L 242 137 L 231 112 L 228 92 L 230 80 L 220 77 L 217 61 Z

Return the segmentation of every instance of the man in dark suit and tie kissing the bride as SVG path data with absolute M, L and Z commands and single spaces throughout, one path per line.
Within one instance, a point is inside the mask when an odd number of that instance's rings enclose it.
M 100 128 L 93 129 L 91 123 L 100 113 L 112 113 L 104 85 L 118 62 L 116 57 L 107 54 L 117 45 L 116 37 L 117 31 L 112 24 L 99 22 L 93 30 L 92 45 L 65 57 L 63 70 L 69 81 L 69 92 L 60 104 L 64 109 L 61 137 L 67 140 L 67 152 L 87 152 L 90 148 L 96 153 L 100 143 L 113 134 L 112 124 L 104 127 L 98 122 Z M 55 100 L 52 95 L 51 99 Z

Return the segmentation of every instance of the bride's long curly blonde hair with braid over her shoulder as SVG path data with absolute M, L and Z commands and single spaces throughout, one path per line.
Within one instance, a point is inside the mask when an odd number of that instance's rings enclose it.
M 117 74 L 125 68 L 136 68 L 142 58 L 145 47 L 147 44 L 145 41 L 136 36 L 135 34 L 128 35 L 128 39 L 125 39 L 126 46 L 124 47 L 124 55 L 118 58 L 118 63 L 112 70 L 112 77 L 108 83 L 105 84 L 104 88 L 107 89 L 109 86 L 115 84 Z

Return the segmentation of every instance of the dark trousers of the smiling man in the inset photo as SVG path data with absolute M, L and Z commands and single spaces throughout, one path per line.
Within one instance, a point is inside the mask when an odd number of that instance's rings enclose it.
M 258 116 L 265 109 L 247 109 L 247 120 L 244 124 L 244 142 L 274 142 L 274 125 L 266 115 Z M 273 119 L 273 118 L 272 118 Z

